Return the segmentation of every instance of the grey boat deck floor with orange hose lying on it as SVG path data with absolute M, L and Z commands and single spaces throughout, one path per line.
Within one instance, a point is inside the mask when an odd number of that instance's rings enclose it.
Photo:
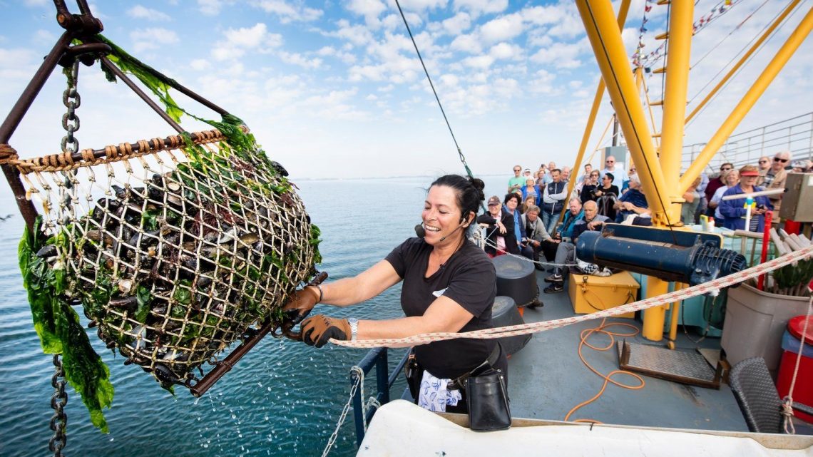
M 546 287 L 543 278 L 546 272 L 536 272 L 540 291 Z M 525 322 L 554 320 L 574 316 L 570 299 L 565 289 L 558 294 L 541 294 L 544 307 L 526 309 Z M 608 322 L 633 324 L 641 329 L 641 322 L 633 319 L 615 318 Z M 564 420 L 567 412 L 576 405 L 598 394 L 604 383 L 602 377 L 589 371 L 578 355 L 580 333 L 584 329 L 598 327 L 601 320 L 590 320 L 581 324 L 569 325 L 534 333 L 522 350 L 509 359 L 509 395 L 511 396 L 511 416 L 517 418 Z M 698 340 L 698 329 L 688 327 L 689 335 Z M 613 331 L 614 329 L 610 329 Z M 630 333 L 633 329 L 616 326 L 620 333 Z M 619 338 L 616 337 L 616 342 Z M 664 347 L 663 342 L 649 342 L 640 336 L 627 337 L 628 342 L 652 344 Z M 606 334 L 595 333 L 589 338 L 593 346 L 604 347 L 610 344 Z M 695 348 L 720 349 L 720 338 L 708 337 L 694 343 L 679 329 L 676 341 L 678 349 Z M 593 350 L 585 346 L 582 350 L 585 359 L 599 372 L 609 373 L 619 369 L 618 352 L 613 344 L 610 350 Z M 721 384 L 720 390 L 683 385 L 664 381 L 650 376 L 641 377 L 646 385 L 638 390 L 629 390 L 617 385 L 607 385 L 600 398 L 576 411 L 569 420 L 595 420 L 605 424 L 624 424 L 678 429 L 714 429 L 728 431 L 748 431 L 728 385 Z M 625 374 L 613 376 L 615 381 L 628 385 L 638 385 L 639 381 Z M 813 428 L 799 430 L 798 433 L 813 433 Z

